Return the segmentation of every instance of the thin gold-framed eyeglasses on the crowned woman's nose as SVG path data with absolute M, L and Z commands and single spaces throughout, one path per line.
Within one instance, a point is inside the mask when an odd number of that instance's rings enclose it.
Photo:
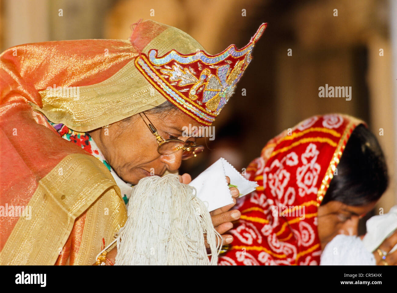
M 146 117 L 149 123 L 146 122 L 142 114 Z M 141 118 L 145 122 L 146 126 L 148 126 L 150 129 L 150 132 L 156 136 L 156 141 L 158 143 L 157 151 L 160 155 L 170 155 L 182 149 L 182 160 L 187 160 L 191 157 L 196 157 L 198 153 L 201 153 L 204 150 L 203 146 L 197 146 L 195 142 L 189 140 L 186 142 L 178 139 L 165 140 L 162 136 L 160 136 L 160 134 L 157 133 L 156 128 L 145 113 L 142 112 L 139 113 L 139 115 L 141 115 Z

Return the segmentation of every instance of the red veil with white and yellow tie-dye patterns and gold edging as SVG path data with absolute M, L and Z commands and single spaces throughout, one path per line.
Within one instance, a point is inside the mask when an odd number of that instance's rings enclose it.
M 234 241 L 218 264 L 320 264 L 317 208 L 359 124 L 342 114 L 313 116 L 270 140 L 247 168 L 259 186 L 237 202 Z

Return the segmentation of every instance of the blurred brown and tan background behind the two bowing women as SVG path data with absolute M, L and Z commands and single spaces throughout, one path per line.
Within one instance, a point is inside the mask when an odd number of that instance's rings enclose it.
M 391 184 L 373 213 L 387 212 L 397 204 L 396 2 L 0 0 L 0 48 L 127 39 L 130 25 L 143 18 L 175 26 L 217 54 L 245 46 L 267 22 L 253 62 L 214 123 L 215 140 L 202 140 L 209 150 L 185 161 L 181 172 L 195 177 L 221 156 L 241 171 L 282 130 L 315 114 L 345 113 L 368 122 L 384 150 Z M 351 101 L 318 97 L 326 83 L 351 86 Z

